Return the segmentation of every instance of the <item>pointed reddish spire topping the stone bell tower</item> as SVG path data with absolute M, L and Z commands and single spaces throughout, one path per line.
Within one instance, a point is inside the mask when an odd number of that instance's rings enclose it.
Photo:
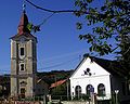
M 22 14 L 21 20 L 20 20 L 17 34 L 18 35 L 23 35 L 24 32 L 29 34 L 30 31 L 27 28 L 27 25 L 28 25 L 28 17 L 27 17 L 26 12 L 25 12 L 25 1 L 24 1 L 24 3 L 23 3 L 23 14 Z

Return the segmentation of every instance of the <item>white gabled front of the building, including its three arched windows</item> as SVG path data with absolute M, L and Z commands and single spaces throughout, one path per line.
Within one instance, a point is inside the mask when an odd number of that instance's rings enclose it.
M 75 96 L 80 98 L 81 94 L 90 95 L 93 92 L 103 95 L 103 99 L 109 100 L 112 98 L 109 75 L 90 57 L 84 57 L 69 78 L 72 99 Z

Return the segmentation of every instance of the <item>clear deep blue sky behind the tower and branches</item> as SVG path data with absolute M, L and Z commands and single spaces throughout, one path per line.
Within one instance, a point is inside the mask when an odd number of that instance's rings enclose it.
M 30 0 L 37 5 L 50 10 L 74 9 L 74 0 Z M 100 5 L 102 0 L 98 0 Z M 23 0 L 2 0 L 0 3 L 0 75 L 10 74 L 10 37 L 17 34 L 17 26 L 23 12 Z M 52 13 L 37 10 L 26 2 L 26 14 L 34 25 L 39 25 Z M 38 72 L 75 69 L 89 44 L 79 40 L 83 31 L 76 29 L 80 18 L 72 13 L 51 16 L 35 34 L 37 43 Z M 91 31 L 90 27 L 86 31 Z M 105 56 L 109 58 L 112 56 Z

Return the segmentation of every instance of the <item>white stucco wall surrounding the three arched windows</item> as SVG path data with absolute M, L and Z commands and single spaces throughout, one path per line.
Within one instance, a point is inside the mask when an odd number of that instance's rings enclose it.
M 90 68 L 91 76 L 84 75 L 84 70 Z M 109 73 L 106 72 L 103 67 L 98 65 L 95 62 L 91 62 L 91 60 L 84 58 L 83 62 L 77 67 L 75 73 L 72 75 L 70 79 L 70 93 L 75 96 L 75 88 L 76 86 L 81 87 L 81 93 L 86 94 L 86 88 L 88 84 L 92 84 L 94 87 L 94 93 L 98 93 L 98 86 L 103 83 L 105 86 L 105 93 L 107 99 L 110 96 L 110 78 Z

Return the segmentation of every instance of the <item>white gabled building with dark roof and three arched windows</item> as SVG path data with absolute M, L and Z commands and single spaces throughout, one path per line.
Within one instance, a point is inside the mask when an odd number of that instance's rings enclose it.
M 117 64 L 114 61 L 84 55 L 70 76 L 72 99 L 95 93 L 98 100 L 110 100 L 117 92 L 120 101 L 130 99 L 130 86 L 120 77 Z M 110 68 L 113 67 L 113 68 Z

